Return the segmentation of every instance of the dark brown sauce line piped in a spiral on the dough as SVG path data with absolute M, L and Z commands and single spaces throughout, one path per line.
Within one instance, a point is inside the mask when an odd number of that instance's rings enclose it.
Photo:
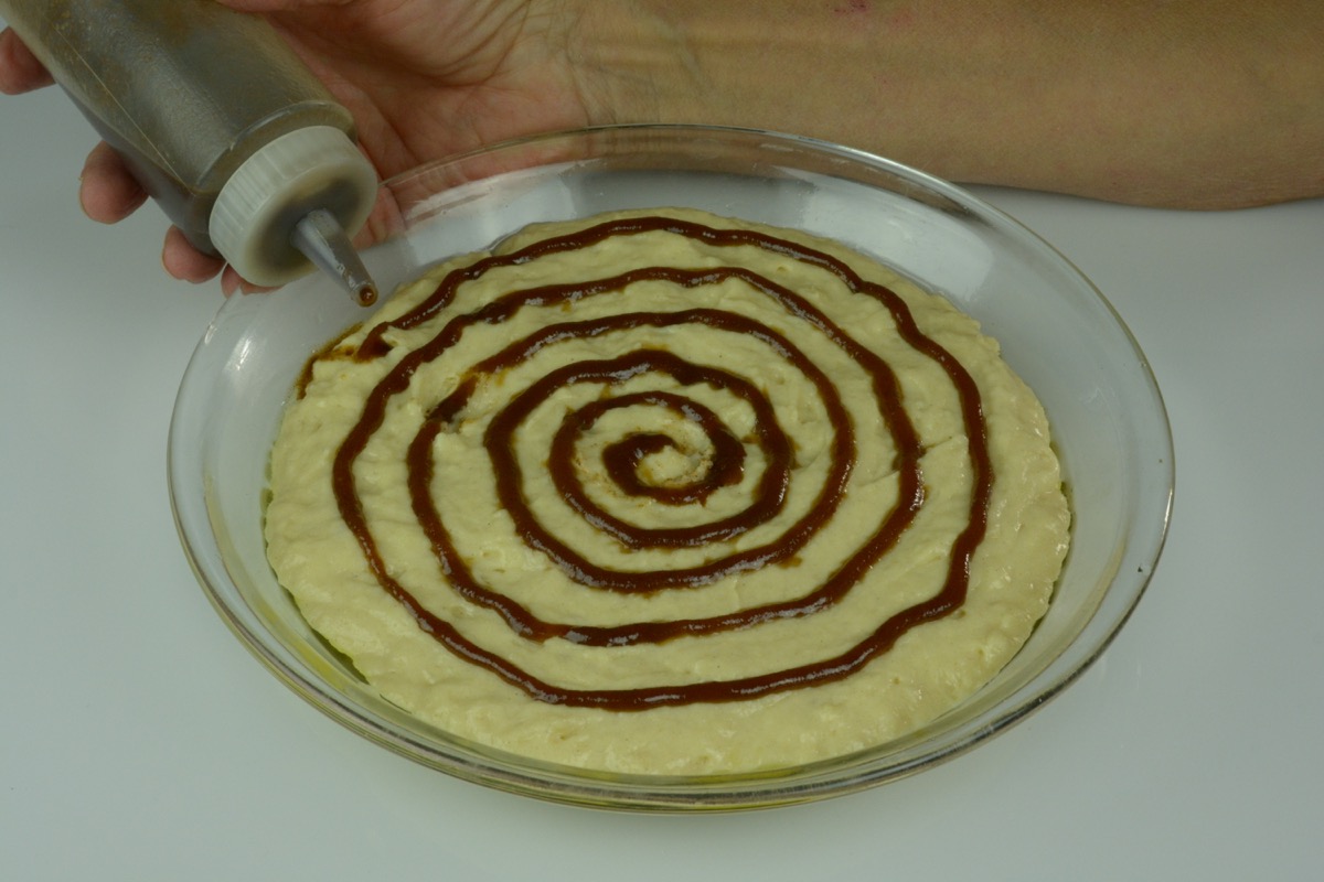
M 609 317 L 571 320 L 547 325 L 507 345 L 500 352 L 477 362 L 461 378 L 457 389 L 440 401 L 422 421 L 408 454 L 408 489 L 414 516 L 432 543 L 444 578 L 470 603 L 499 614 L 510 628 L 530 640 L 569 640 L 593 647 L 621 647 L 661 643 L 681 636 L 708 635 L 756 627 L 760 623 L 813 615 L 845 598 L 870 567 L 882 558 L 914 521 L 924 500 L 920 458 L 923 446 L 906 413 L 900 385 L 891 366 L 866 349 L 850 335 L 812 305 L 805 298 L 747 268 L 642 267 L 630 272 L 576 283 L 515 290 L 495 298 L 482 308 L 450 319 L 440 332 L 418 349 L 406 353 L 372 390 L 359 422 L 346 436 L 332 467 L 332 489 L 340 516 L 356 537 L 363 554 L 391 596 L 401 603 L 426 633 L 457 657 L 479 665 L 535 700 L 616 711 L 645 710 L 663 705 L 723 702 L 757 698 L 769 693 L 798 689 L 839 680 L 861 669 L 871 659 L 887 652 L 911 628 L 947 616 L 960 608 L 969 584 L 973 554 L 982 542 L 993 484 L 982 405 L 973 378 L 960 362 L 925 336 L 915 324 L 906 303 L 890 288 L 859 276 L 845 262 L 822 251 L 788 239 L 751 230 L 716 229 L 666 217 L 616 220 L 568 235 L 535 242 L 518 251 L 491 255 L 446 275 L 437 290 L 406 315 L 392 323 L 373 327 L 359 346 L 356 358 L 371 360 L 389 352 L 385 333 L 392 327 L 413 328 L 444 309 L 457 288 L 483 276 L 496 267 L 518 266 L 549 254 L 591 247 L 612 237 L 666 231 L 715 246 L 755 246 L 769 253 L 808 263 L 835 275 L 858 296 L 880 301 L 895 320 L 899 335 L 947 373 L 961 402 L 961 418 L 968 439 L 973 488 L 968 520 L 956 537 L 941 590 L 932 598 L 882 621 L 865 640 L 846 652 L 813 664 L 775 670 L 737 680 L 679 684 L 647 689 L 563 689 L 520 669 L 510 660 L 485 649 L 465 637 L 453 624 L 426 610 L 397 579 L 381 558 L 377 542 L 363 512 L 354 477 L 354 463 L 381 426 L 392 397 L 409 387 L 413 374 L 429 361 L 450 349 L 466 328 L 477 324 L 499 324 L 527 307 L 572 305 L 577 300 L 624 292 L 638 282 L 666 282 L 682 288 L 703 288 L 728 279 L 739 279 L 780 304 L 790 316 L 806 321 L 846 352 L 869 376 L 884 431 L 895 448 L 894 468 L 898 476 L 898 500 L 880 513 L 871 536 L 855 549 L 822 584 L 809 587 L 801 596 L 752 607 L 731 615 L 669 621 L 641 621 L 617 627 L 585 627 L 544 621 L 511 598 L 482 584 L 451 542 L 436 508 L 433 442 L 463 418 L 474 391 L 483 381 L 524 362 L 540 349 L 568 340 L 593 339 L 632 328 L 670 328 L 699 324 L 728 333 L 748 335 L 760 340 L 772 353 L 805 376 L 818 391 L 834 427 L 830 467 L 822 488 L 809 510 L 796 520 L 776 541 L 711 559 L 703 565 L 663 571 L 620 571 L 596 565 L 567 547 L 545 530 L 524 500 L 522 467 L 514 452 L 514 432 L 531 413 L 556 390 L 575 383 L 597 383 L 608 389 L 639 374 L 665 374 L 681 386 L 704 385 L 726 391 L 748 403 L 755 414 L 749 443 L 759 447 L 767 463 L 751 492 L 748 506 L 737 514 L 687 528 L 647 529 L 628 524 L 600 509 L 579 483 L 573 454 L 577 439 L 604 414 L 618 407 L 661 407 L 698 426 L 708 439 L 706 471 L 696 479 L 675 487 L 655 487 L 638 476 L 642 459 L 674 446 L 671 438 L 655 432 L 638 432 L 614 442 L 602 452 L 605 472 L 617 489 L 662 504 L 703 501 L 718 488 L 741 480 L 745 448 L 720 424 L 718 417 L 674 391 L 622 393 L 602 397 L 568 414 L 551 440 L 551 476 L 569 505 L 589 524 L 630 549 L 695 547 L 728 541 L 775 517 L 784 506 L 786 488 L 794 465 L 792 444 L 777 426 L 771 402 L 749 381 L 730 372 L 696 365 L 662 349 L 636 349 L 613 358 L 589 360 L 565 365 L 539 378 L 519 393 L 498 414 L 485 432 L 485 447 L 493 463 L 499 500 L 515 522 L 520 538 L 553 562 L 568 578 L 585 590 L 646 594 L 675 591 L 710 584 L 723 577 L 776 565 L 790 565 L 805 545 L 830 521 L 855 464 L 855 427 L 830 378 L 789 340 L 776 331 L 732 312 L 715 308 L 692 308 L 677 312 L 621 312 Z M 445 488 L 441 488 L 445 493 Z

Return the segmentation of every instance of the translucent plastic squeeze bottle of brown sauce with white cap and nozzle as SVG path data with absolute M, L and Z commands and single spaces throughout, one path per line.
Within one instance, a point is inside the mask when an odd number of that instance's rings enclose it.
M 214 0 L 0 0 L 0 15 L 197 249 L 359 303 L 377 176 L 354 120 L 262 19 Z

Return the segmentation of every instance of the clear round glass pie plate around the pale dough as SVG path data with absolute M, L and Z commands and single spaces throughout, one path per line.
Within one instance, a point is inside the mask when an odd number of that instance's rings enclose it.
M 385 182 L 373 221 L 385 238 L 364 257 L 389 291 L 530 222 L 649 206 L 706 209 L 838 239 L 944 294 L 1001 342 L 1047 410 L 1074 509 L 1051 607 L 1012 662 L 900 741 L 747 775 L 587 772 L 417 721 L 312 633 L 265 557 L 267 455 L 282 409 L 307 358 L 365 317 L 320 278 L 228 300 L 188 365 L 171 424 L 169 491 L 183 545 L 240 640 L 327 715 L 425 766 L 618 809 L 771 807 L 876 785 L 963 754 L 1079 677 L 1125 623 L 1157 563 L 1173 493 L 1172 438 L 1145 357 L 1104 298 L 1042 239 L 972 194 L 802 138 L 605 127 L 493 147 Z

